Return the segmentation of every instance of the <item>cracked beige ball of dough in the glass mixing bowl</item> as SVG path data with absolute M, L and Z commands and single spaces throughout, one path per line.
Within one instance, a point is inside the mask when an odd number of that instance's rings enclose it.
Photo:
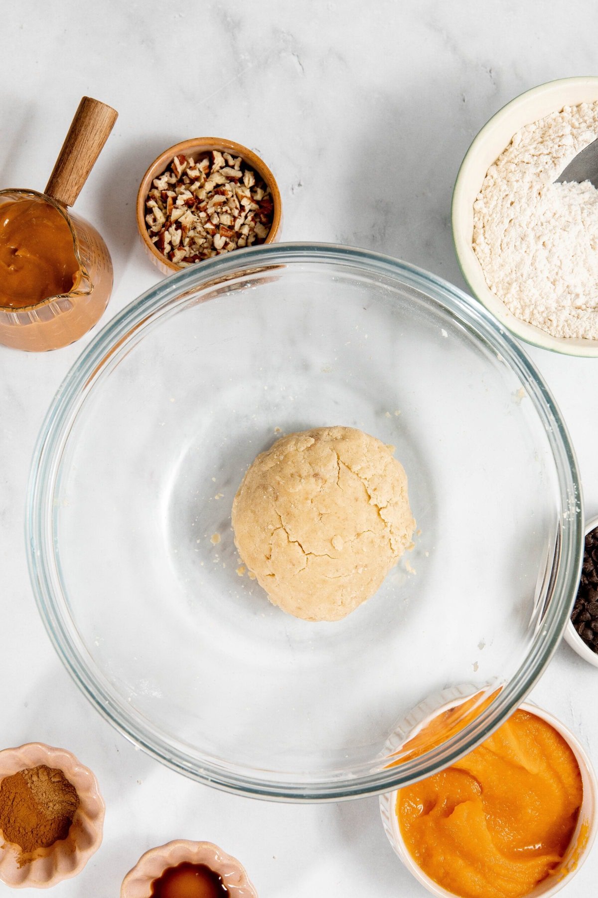
M 271 602 L 306 621 L 340 621 L 376 592 L 415 521 L 403 465 L 384 443 L 353 427 L 317 427 L 257 456 L 232 525 Z

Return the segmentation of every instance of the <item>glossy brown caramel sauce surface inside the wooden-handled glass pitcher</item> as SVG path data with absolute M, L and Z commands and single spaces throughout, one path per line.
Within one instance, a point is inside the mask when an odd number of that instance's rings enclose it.
M 30 198 L 0 206 L 0 306 L 68 294 L 78 280 L 73 234 L 55 207 Z

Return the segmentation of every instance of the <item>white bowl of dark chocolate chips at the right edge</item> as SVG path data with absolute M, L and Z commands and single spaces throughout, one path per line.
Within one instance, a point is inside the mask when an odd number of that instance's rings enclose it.
M 577 655 L 598 667 L 598 515 L 585 524 L 584 563 L 565 639 Z

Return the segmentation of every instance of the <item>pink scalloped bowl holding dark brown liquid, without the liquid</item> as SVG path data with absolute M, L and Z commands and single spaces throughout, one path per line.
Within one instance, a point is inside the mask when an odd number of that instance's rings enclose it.
M 257 898 L 256 889 L 249 882 L 247 872 L 237 860 L 231 858 L 212 842 L 194 842 L 178 839 L 146 851 L 132 870 L 126 874 L 120 887 L 120 898 L 151 898 L 152 882 L 159 879 L 168 867 L 184 862 L 205 864 L 221 876 L 230 898 Z

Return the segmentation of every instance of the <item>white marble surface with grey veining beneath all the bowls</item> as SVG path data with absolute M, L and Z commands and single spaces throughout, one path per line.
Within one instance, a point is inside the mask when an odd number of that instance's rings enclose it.
M 43 189 L 82 94 L 120 112 L 77 203 L 113 255 L 104 321 L 158 277 L 137 242 L 134 193 L 153 157 L 189 136 L 230 136 L 264 156 L 285 239 L 385 251 L 463 286 L 449 204 L 472 136 L 528 87 L 595 74 L 598 24 L 586 0 L 24 0 L 3 16 L 0 185 Z M 262 898 L 422 896 L 386 842 L 377 799 L 283 806 L 196 785 L 101 721 L 59 664 L 33 603 L 23 505 L 40 421 L 87 339 L 39 356 L 0 347 L 0 745 L 64 745 L 96 771 L 108 805 L 102 848 L 56 894 L 114 896 L 143 850 L 183 836 L 237 855 Z M 598 362 L 531 355 L 595 514 Z M 594 668 L 562 646 L 533 698 L 598 764 L 597 687 Z M 597 875 L 598 848 L 568 896 L 594 895 Z

